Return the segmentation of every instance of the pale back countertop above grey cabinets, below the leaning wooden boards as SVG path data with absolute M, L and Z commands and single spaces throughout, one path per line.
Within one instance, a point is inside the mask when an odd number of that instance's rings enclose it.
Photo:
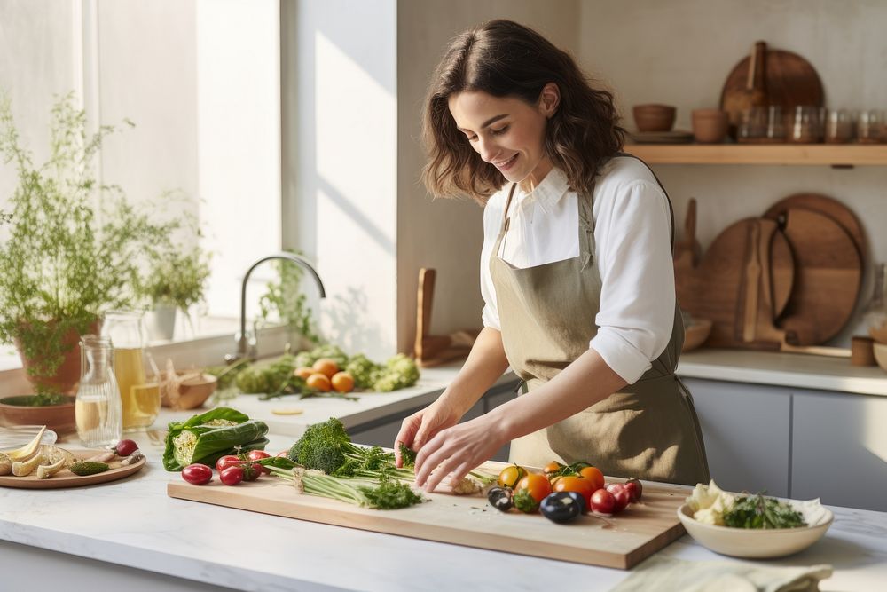
M 688 378 L 887 396 L 887 373 L 880 367 L 851 366 L 849 358 L 832 356 L 703 348 L 681 354 L 678 374 Z

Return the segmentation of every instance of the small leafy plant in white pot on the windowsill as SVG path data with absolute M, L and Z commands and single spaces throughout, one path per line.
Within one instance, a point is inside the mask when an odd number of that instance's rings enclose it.
M 170 250 L 154 261 L 138 288 L 152 308 L 148 330 L 154 339 L 173 338 L 177 311 L 190 322 L 188 311 L 204 300 L 208 278 L 209 254 L 200 247 Z

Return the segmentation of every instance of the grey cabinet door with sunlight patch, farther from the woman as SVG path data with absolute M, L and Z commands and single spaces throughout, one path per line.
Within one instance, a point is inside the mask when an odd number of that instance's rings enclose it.
M 887 398 L 795 392 L 791 496 L 887 511 Z

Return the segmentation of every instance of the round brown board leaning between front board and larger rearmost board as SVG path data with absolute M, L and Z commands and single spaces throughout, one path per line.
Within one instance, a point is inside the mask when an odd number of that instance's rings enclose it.
M 777 327 L 790 345 L 825 343 L 844 328 L 860 295 L 862 260 L 850 234 L 811 209 L 779 219 L 795 256 L 795 287 Z

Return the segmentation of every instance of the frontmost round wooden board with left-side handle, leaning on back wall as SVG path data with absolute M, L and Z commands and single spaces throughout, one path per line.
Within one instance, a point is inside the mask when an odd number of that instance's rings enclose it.
M 766 291 L 760 302 L 770 304 L 767 314 L 772 322 L 787 306 L 794 282 L 789 241 L 773 220 L 744 218 L 718 234 L 703 253 L 700 264 L 688 265 L 688 257 L 675 262 L 675 288 L 680 307 L 696 319 L 712 322 L 706 345 L 779 349 L 779 343 L 748 340 L 745 335 L 749 308 L 746 275 L 753 251 L 755 260 L 765 260 L 757 285 Z M 757 304 L 753 310 L 758 310 Z

